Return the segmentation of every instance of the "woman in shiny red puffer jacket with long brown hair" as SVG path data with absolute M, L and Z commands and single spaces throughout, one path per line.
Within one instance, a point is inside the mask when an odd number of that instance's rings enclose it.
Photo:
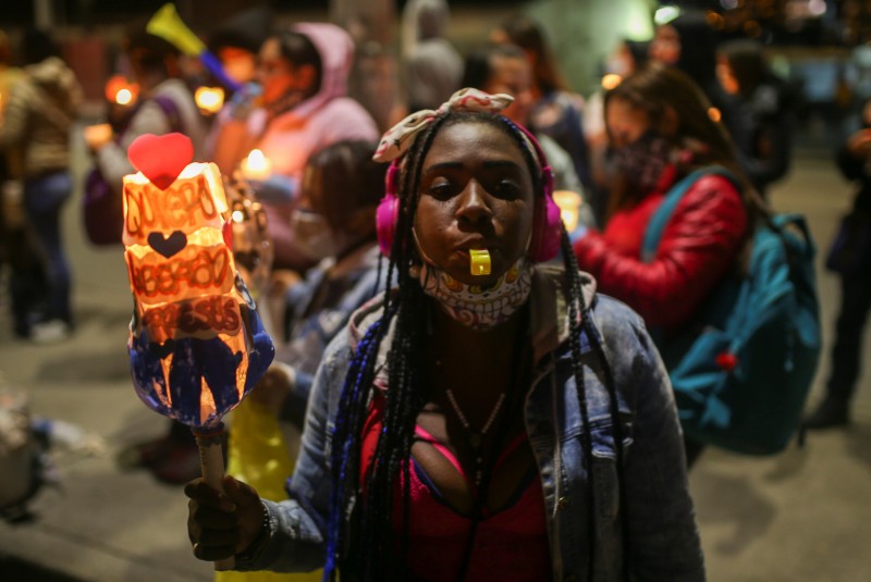
M 604 232 L 574 250 L 602 293 L 623 300 L 659 332 L 686 331 L 704 298 L 735 264 L 756 195 L 708 99 L 684 73 L 651 63 L 605 96 L 615 177 Z M 704 166 L 668 220 L 655 253 L 642 259 L 645 231 L 672 186 Z M 666 362 L 667 363 L 667 362 Z M 689 460 L 700 447 L 688 446 Z

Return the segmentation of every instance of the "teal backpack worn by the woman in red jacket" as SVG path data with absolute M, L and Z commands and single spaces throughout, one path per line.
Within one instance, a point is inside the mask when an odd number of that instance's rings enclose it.
M 648 224 L 643 260 L 655 255 L 684 193 L 713 173 L 737 183 L 725 169 L 704 168 L 676 184 Z M 736 453 L 771 455 L 799 429 L 817 371 L 815 249 L 798 214 L 761 221 L 751 238 L 743 276 L 724 280 L 685 334 L 658 345 L 688 436 Z

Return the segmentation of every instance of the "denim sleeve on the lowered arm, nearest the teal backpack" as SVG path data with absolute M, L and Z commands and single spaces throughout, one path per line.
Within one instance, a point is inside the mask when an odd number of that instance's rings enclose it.
M 628 309 L 626 310 L 629 311 Z M 641 319 L 602 330 L 614 384 L 634 411 L 624 459 L 627 562 L 637 581 L 704 580 L 680 424 L 668 374 Z

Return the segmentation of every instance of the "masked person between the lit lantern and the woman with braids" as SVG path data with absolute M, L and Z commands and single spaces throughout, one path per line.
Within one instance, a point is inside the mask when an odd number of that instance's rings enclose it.
M 385 168 L 372 161 L 373 152 L 369 141 L 336 141 L 315 152 L 303 173 L 292 221 L 297 240 L 319 262 L 287 289 L 281 325 L 286 343 L 233 412 L 228 444 L 228 472 L 267 497 L 283 494 L 293 470 L 312 376 L 327 344 L 379 289 L 375 212 Z M 218 582 L 240 575 L 270 580 L 268 572 L 221 572 Z

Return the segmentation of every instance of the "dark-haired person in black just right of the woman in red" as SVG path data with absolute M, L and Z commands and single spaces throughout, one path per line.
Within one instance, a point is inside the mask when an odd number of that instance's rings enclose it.
M 717 51 L 716 77 L 728 98 L 723 123 L 735 143 L 738 161 L 761 194 L 789 170 L 795 98 L 765 61 L 762 46 L 731 40 Z

